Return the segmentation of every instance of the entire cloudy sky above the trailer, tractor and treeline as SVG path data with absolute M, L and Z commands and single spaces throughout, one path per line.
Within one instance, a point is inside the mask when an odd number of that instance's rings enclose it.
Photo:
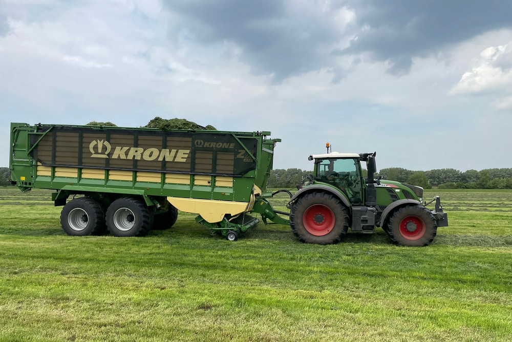
M 185 118 L 281 138 L 274 168 L 512 167 L 512 2 L 0 0 L 10 122 Z

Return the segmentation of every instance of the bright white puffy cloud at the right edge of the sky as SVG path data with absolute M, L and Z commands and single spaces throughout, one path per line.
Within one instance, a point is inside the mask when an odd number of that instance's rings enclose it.
M 479 65 L 465 72 L 453 95 L 488 93 L 512 86 L 512 42 L 480 53 Z

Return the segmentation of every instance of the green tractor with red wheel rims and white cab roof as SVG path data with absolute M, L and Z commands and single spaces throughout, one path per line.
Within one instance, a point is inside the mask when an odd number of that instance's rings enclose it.
M 329 150 L 328 150 L 329 152 Z M 437 227 L 448 225 L 440 198 L 423 202 L 423 188 L 374 180 L 375 153 L 313 155 L 313 175 L 291 197 L 290 226 L 302 242 L 333 244 L 347 230 L 373 233 L 381 227 L 398 245 L 426 246 Z M 368 177 L 362 175 L 366 162 Z M 426 205 L 435 203 L 435 210 Z

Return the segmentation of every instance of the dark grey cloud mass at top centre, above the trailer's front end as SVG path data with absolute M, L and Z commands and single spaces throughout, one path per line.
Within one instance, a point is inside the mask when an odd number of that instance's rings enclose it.
M 166 1 L 164 7 L 181 20 L 202 44 L 233 41 L 253 73 L 273 73 L 280 81 L 332 65 L 332 56 L 320 50 L 340 38 L 329 13 L 308 12 L 282 0 Z M 179 32 L 169 32 L 169 39 Z

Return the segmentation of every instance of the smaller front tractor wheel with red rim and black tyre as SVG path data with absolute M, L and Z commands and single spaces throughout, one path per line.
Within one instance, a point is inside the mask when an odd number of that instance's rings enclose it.
M 399 246 L 428 246 L 436 237 L 437 223 L 429 209 L 409 205 L 393 212 L 387 232 Z

